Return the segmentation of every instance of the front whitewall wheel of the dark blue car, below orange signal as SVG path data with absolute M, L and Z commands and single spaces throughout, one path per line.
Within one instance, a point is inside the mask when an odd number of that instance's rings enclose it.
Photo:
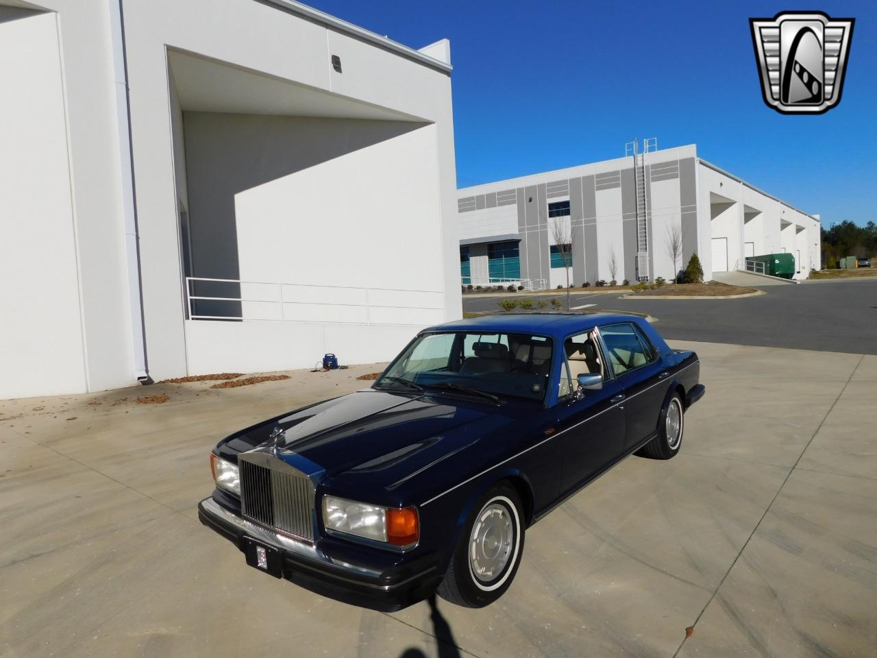
M 503 596 L 524 553 L 522 509 L 509 483 L 498 483 L 481 497 L 460 533 L 439 597 L 482 608 Z

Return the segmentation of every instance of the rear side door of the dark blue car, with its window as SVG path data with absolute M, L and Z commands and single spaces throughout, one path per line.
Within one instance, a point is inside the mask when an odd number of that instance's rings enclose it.
M 612 374 L 624 394 L 624 449 L 630 450 L 658 427 L 669 375 L 658 350 L 633 323 L 604 325 L 600 340 Z

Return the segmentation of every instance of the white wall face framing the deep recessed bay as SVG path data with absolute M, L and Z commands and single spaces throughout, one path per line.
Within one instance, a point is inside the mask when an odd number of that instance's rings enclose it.
M 210 20 L 205 20 L 205 17 L 210 17 Z M 242 31 L 242 25 L 246 26 L 246 31 Z M 424 132 L 424 136 L 430 135 L 433 161 L 438 163 L 431 174 L 432 182 L 437 186 L 433 192 L 431 210 L 440 204 L 440 216 L 434 218 L 434 241 L 424 244 L 441 245 L 441 253 L 438 254 L 439 249 L 436 249 L 437 255 L 432 260 L 444 262 L 430 262 L 427 269 L 432 280 L 437 278 L 433 268 L 437 264 L 443 266 L 438 276 L 444 278 L 444 289 L 447 290 L 444 315 L 448 319 L 460 317 L 453 117 L 448 75 L 273 6 L 254 2 L 155 0 L 143 4 L 126 1 L 125 33 L 143 253 L 146 340 L 153 376 L 182 375 L 187 371 L 182 291 L 176 265 L 180 259 L 173 192 L 174 172 L 171 166 L 173 153 L 168 139 L 171 126 L 166 47 L 179 48 L 434 122 L 436 127 L 431 132 Z M 328 65 L 330 54 L 340 56 L 343 74 L 336 74 Z M 187 155 L 192 157 L 192 154 Z M 423 169 L 419 170 L 423 173 Z M 356 175 L 363 173 L 358 171 Z M 346 184 L 350 181 L 345 179 L 341 182 Z M 339 181 L 334 182 L 332 190 L 322 189 L 331 197 L 344 196 Z M 270 195 L 274 190 L 263 190 L 261 193 Z M 189 197 L 191 195 L 192 190 L 189 190 Z M 286 200 L 287 197 L 282 198 Z M 242 198 L 240 203 L 246 202 Z M 326 228 L 319 222 L 317 225 Z M 311 235 L 309 233 L 308 237 Z M 363 237 L 362 232 L 359 235 Z M 246 238 L 246 235 L 239 237 Z M 328 240 L 339 236 L 329 229 L 321 237 Z M 368 254 L 368 268 L 376 262 L 390 261 L 395 257 L 395 245 L 387 242 L 379 245 L 367 237 L 365 240 L 370 247 L 379 247 L 379 251 Z M 267 243 L 282 244 L 283 241 L 289 244 L 288 240 L 275 240 L 271 235 L 263 236 L 261 241 L 262 247 L 266 247 Z M 257 268 L 252 259 L 248 259 L 245 256 L 242 261 L 241 278 L 244 279 L 250 276 L 253 268 Z M 265 264 L 264 267 L 271 266 Z M 330 266 L 325 270 L 327 275 L 335 276 L 332 274 L 335 267 Z M 277 274 L 286 275 L 283 272 Z M 349 281 L 354 276 L 350 274 L 346 278 Z M 192 348 L 189 343 L 189 349 Z M 342 352 L 341 349 L 337 351 Z M 386 354 L 385 358 L 389 356 L 392 354 Z M 189 364 L 193 362 L 189 360 Z

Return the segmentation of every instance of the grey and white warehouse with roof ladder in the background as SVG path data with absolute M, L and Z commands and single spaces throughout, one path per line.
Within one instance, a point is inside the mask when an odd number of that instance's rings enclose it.
M 820 268 L 818 215 L 702 160 L 695 145 L 658 150 L 646 139 L 626 150 L 458 190 L 463 285 L 670 281 L 695 253 L 708 281 L 760 254 L 793 254 L 796 278 Z

